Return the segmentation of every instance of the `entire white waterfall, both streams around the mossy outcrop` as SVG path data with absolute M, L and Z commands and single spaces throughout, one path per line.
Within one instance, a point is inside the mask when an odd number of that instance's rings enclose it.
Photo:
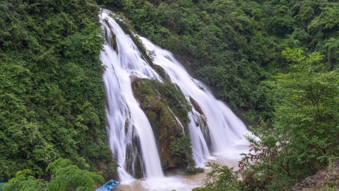
M 159 187 L 151 189 L 151 186 L 146 186 L 146 190 L 171 190 L 168 184 L 174 181 L 180 185 L 181 182 L 177 178 L 164 178 L 155 137 L 146 115 L 133 97 L 130 75 L 159 81 L 162 79 L 142 59 L 131 38 L 109 17 L 106 9 L 101 15 L 101 22 L 108 41 L 101 54 L 101 61 L 107 66 L 103 74 L 107 94 L 107 131 L 114 157 L 121 166 L 118 169 L 120 181 L 132 180 L 141 173 L 147 179 L 158 178 L 157 181 L 153 179 L 149 185 Z M 117 51 L 111 45 L 111 30 L 116 37 Z M 243 152 L 239 149 L 246 144 L 243 134 L 248 132 L 241 120 L 223 102 L 217 100 L 208 87 L 193 79 L 169 51 L 159 48 L 146 38 L 140 39 L 148 50 L 155 51 L 154 64 L 165 69 L 170 80 L 178 85 L 189 102 L 194 101 L 200 106 L 200 109 L 192 108 L 189 113 L 191 123 L 188 124 L 196 166 L 203 166 L 211 152 L 215 156 L 238 159 L 239 153 Z M 192 103 L 193 106 L 197 104 Z M 179 120 L 177 122 L 184 128 Z M 138 168 L 142 171 L 135 172 Z M 192 189 L 177 185 L 173 188 Z

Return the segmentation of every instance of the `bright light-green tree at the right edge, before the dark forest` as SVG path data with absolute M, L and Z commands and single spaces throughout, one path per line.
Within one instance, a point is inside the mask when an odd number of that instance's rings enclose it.
M 298 160 L 307 157 L 326 166 L 339 151 L 339 73 L 322 72 L 324 56 L 318 53 L 304 56 L 300 49 L 287 48 L 282 54 L 293 62 L 293 72 L 277 76 L 285 102 L 276 108 L 276 124 L 289 127 Z

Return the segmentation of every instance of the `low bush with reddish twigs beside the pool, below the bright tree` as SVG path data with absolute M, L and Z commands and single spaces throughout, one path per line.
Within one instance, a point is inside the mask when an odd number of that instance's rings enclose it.
M 270 125 L 269 121 L 261 120 L 260 126 L 251 128 L 251 134 L 245 135 L 251 149 L 250 153 L 242 154 L 239 172 L 242 183 L 250 190 L 287 191 L 305 172 L 298 169 L 300 162 L 293 156 L 288 135 L 269 128 Z

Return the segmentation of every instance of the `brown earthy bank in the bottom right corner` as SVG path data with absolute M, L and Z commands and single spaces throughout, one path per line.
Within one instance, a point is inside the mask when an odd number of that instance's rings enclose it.
M 339 160 L 331 168 L 321 170 L 296 184 L 292 191 L 339 191 Z

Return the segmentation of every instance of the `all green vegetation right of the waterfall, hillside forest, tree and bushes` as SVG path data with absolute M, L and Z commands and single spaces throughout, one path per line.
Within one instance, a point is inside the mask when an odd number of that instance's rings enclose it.
M 289 190 L 339 156 L 338 1 L 110 0 L 107 5 L 176 54 L 248 124 L 258 125 L 246 135 L 252 153 L 239 163 L 242 183 L 232 169 L 212 165 L 216 173 L 197 190 Z

